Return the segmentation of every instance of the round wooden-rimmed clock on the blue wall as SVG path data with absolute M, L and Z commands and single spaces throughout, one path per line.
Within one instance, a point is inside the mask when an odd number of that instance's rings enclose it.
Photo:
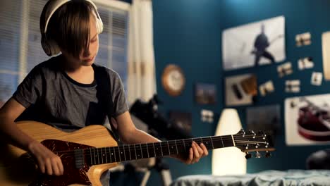
M 185 87 L 185 75 L 180 67 L 170 64 L 164 69 L 161 75 L 161 83 L 171 96 L 176 97 L 183 91 Z

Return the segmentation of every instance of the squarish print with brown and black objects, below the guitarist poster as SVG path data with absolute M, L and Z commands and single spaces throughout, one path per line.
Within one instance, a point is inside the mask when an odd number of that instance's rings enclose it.
M 257 76 L 254 74 L 226 77 L 226 106 L 252 104 L 257 96 Z

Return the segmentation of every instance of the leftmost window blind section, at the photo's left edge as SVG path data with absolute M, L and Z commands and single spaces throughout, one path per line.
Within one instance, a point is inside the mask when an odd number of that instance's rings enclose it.
M 21 0 L 0 2 L 0 106 L 18 84 Z

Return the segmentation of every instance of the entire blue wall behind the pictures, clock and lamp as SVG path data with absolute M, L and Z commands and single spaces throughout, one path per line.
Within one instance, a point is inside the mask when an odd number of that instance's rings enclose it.
M 244 73 L 255 73 L 258 82 L 273 80 L 276 92 L 267 97 L 258 97 L 256 105 L 281 105 L 282 130 L 276 137 L 276 152 L 270 159 L 250 159 L 247 171 L 255 173 L 266 169 L 286 170 L 305 168 L 305 159 L 313 151 L 329 146 L 287 147 L 284 137 L 283 100 L 286 97 L 324 94 L 330 92 L 330 82 L 321 87 L 310 85 L 312 71 L 322 71 L 322 32 L 330 30 L 330 1 L 327 0 L 153 0 L 154 51 L 157 72 L 157 92 L 164 104 L 161 111 L 188 111 L 193 115 L 193 135 L 213 135 L 216 123 L 202 123 L 200 110 L 210 109 L 221 113 L 224 105 L 224 77 Z M 294 73 L 280 79 L 276 64 L 257 68 L 226 71 L 221 64 L 221 32 L 228 27 L 236 27 L 276 16 L 286 18 L 286 61 L 293 63 Z M 295 35 L 302 32 L 312 34 L 310 46 L 296 47 Z M 298 72 L 298 58 L 312 56 L 314 68 Z M 186 85 L 179 97 L 170 97 L 161 87 L 161 73 L 169 63 L 181 66 L 185 73 Z M 300 79 L 302 91 L 288 94 L 284 91 L 286 79 Z M 194 101 L 195 82 L 209 82 L 217 86 L 218 103 L 214 106 L 198 105 Z M 237 107 L 240 119 L 245 125 L 245 108 Z M 216 118 L 218 120 L 218 118 Z M 189 174 L 211 173 L 211 156 L 200 163 L 186 166 L 176 160 L 166 159 L 173 178 Z M 159 178 L 152 178 L 152 180 Z

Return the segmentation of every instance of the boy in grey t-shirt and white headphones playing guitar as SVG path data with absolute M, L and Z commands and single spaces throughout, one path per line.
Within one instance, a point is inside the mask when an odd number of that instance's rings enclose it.
M 123 143 L 159 142 L 135 128 L 118 73 L 94 64 L 102 26 L 92 1 L 49 0 L 40 18 L 42 46 L 49 56 L 59 51 L 61 55 L 37 65 L 0 109 L 1 131 L 13 144 L 35 157 L 42 173 L 62 175 L 61 159 L 19 130 L 17 120 L 36 120 L 73 131 L 86 125 L 103 125 L 109 116 L 109 120 L 110 117 L 116 120 Z M 108 77 L 100 77 L 102 70 Z M 99 89 L 100 82 L 107 78 L 111 90 L 109 110 L 104 109 L 107 94 Z M 207 154 L 204 144 L 193 142 L 188 159 L 177 158 L 190 164 Z

